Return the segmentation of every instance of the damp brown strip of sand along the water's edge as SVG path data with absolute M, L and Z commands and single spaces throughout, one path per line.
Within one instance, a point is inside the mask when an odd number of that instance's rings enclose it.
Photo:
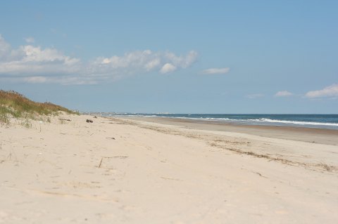
M 136 121 L 148 121 L 158 124 L 184 126 L 187 129 L 223 131 L 245 133 L 268 138 L 280 138 L 285 140 L 300 140 L 307 143 L 320 143 L 338 145 L 338 130 L 318 129 L 294 126 L 268 126 L 223 123 L 218 121 L 202 121 L 172 117 L 120 117 Z

